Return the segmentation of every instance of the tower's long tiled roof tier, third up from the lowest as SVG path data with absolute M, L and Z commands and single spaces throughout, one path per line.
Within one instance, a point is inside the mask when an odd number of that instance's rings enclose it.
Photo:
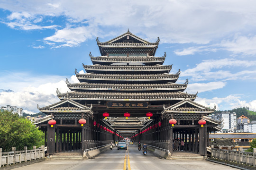
M 80 82 L 90 80 L 101 80 L 101 81 L 167 81 L 176 82 L 178 74 L 78 74 L 76 77 Z

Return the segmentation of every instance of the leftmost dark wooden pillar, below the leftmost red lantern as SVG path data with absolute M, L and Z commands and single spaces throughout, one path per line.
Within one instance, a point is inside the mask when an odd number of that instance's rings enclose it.
M 53 155 L 55 153 L 55 125 L 47 124 L 47 153 Z

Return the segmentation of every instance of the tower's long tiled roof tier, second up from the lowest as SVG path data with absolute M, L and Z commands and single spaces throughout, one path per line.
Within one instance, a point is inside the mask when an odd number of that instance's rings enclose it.
M 67 85 L 71 90 L 100 90 L 100 91 L 184 91 L 187 84 L 163 83 L 163 84 L 108 84 L 108 83 L 76 83 Z

